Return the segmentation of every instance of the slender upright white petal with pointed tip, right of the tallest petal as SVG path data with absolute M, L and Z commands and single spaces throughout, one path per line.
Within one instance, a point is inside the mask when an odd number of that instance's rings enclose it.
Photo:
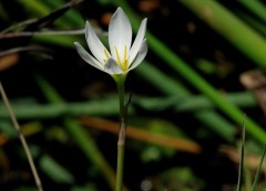
M 146 33 L 146 21 L 147 21 L 147 19 L 144 19 L 142 21 L 141 26 L 137 31 L 135 41 L 130 50 L 129 63 L 132 63 L 135 60 L 135 56 L 136 56 L 137 52 L 140 51 L 141 44 L 143 42 L 144 35 Z

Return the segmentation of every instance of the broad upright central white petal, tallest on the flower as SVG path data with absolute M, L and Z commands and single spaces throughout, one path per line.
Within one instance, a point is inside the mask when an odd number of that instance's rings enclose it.
M 129 18 L 121 8 L 117 8 L 109 24 L 109 45 L 113 57 L 117 61 L 115 49 L 121 60 L 124 60 L 124 50 L 129 55 L 132 41 L 132 28 Z

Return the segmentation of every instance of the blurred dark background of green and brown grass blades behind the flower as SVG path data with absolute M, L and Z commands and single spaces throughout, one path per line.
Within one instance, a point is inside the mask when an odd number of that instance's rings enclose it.
M 131 71 L 124 184 L 134 191 L 243 187 L 266 144 L 266 4 L 259 0 L 1 0 L 0 79 L 44 190 L 113 190 L 119 100 L 88 65 L 89 20 L 106 43 L 122 7 L 134 34 L 147 18 L 149 53 Z M 0 190 L 35 191 L 18 132 L 0 102 Z M 264 172 L 257 190 L 265 189 Z

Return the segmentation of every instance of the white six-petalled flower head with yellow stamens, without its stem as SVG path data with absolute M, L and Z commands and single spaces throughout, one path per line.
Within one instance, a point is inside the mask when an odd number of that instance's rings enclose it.
M 110 75 L 127 74 L 135 68 L 147 53 L 146 19 L 141 23 L 135 41 L 132 44 L 132 28 L 129 18 L 117 8 L 109 24 L 110 52 L 102 44 L 89 21 L 85 25 L 85 39 L 92 53 L 88 53 L 79 42 L 74 42 L 80 56 L 92 66 Z

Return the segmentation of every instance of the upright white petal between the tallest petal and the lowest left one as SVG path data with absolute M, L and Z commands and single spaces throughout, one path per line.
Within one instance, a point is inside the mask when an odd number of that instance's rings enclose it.
M 86 21 L 86 25 L 85 25 L 85 39 L 86 39 L 86 43 L 88 43 L 92 54 L 101 63 L 105 63 L 104 61 L 108 60 L 108 56 L 104 54 L 104 50 L 106 51 L 108 54 L 110 54 L 110 53 L 108 52 L 105 46 L 102 44 L 102 42 L 98 38 L 96 33 L 92 29 L 89 21 Z

